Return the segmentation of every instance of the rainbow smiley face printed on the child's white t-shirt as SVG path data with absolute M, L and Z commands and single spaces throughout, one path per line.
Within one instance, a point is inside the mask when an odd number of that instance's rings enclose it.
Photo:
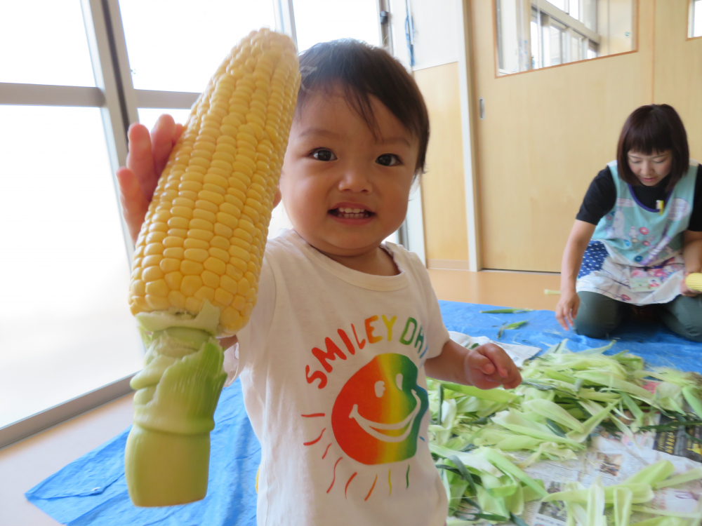
M 331 412 L 331 427 L 341 449 L 362 464 L 402 461 L 416 453 L 428 406 L 412 360 L 380 354 L 343 386 Z

